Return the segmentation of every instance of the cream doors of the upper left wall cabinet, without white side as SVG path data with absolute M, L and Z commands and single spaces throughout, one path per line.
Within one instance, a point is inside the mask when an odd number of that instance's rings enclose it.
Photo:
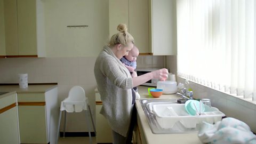
M 6 55 L 37 55 L 36 1 L 4 0 Z

